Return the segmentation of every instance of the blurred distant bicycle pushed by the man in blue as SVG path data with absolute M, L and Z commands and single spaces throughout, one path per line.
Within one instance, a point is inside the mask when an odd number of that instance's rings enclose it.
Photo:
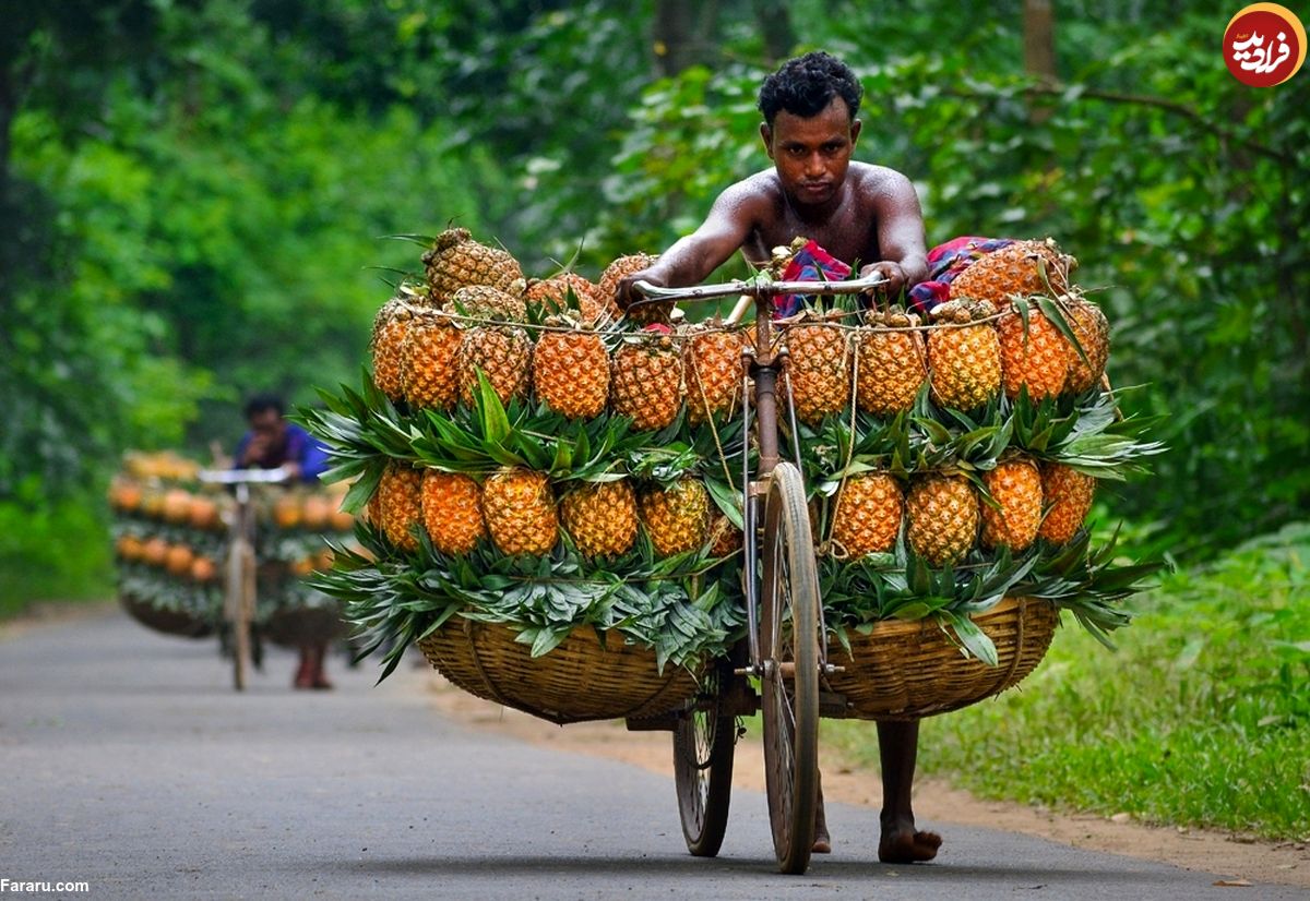
M 255 612 L 254 509 L 250 507 L 252 485 L 279 485 L 290 478 L 278 469 L 206 469 L 199 478 L 210 485 L 229 485 L 236 506 L 228 523 L 228 558 L 224 564 L 223 621 L 231 635 L 232 684 L 245 690 L 246 659 L 258 665 L 250 625 Z

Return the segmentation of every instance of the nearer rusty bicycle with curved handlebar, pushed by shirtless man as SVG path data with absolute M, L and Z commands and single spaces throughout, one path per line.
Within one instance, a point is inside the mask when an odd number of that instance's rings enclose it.
M 827 636 L 810 509 L 800 470 L 796 414 L 787 392 L 791 452 L 779 457 L 778 378 L 787 351 L 774 350 L 770 301 L 778 295 L 854 295 L 884 283 L 882 276 L 849 282 L 730 282 L 693 288 L 659 288 L 638 282 L 642 299 L 715 300 L 739 296 L 730 322 L 753 303 L 755 346 L 741 358 L 741 397 L 753 382 L 756 450 L 751 471 L 752 403 L 743 416 L 744 595 L 747 643 L 734 659 L 719 660 L 706 674 L 696 701 L 673 724 L 673 770 L 688 850 L 718 854 L 727 826 L 736 718 L 760 708 L 764 719 L 765 783 L 769 824 L 778 868 L 802 873 L 815 839 L 819 787 L 820 677 L 838 672 L 827 660 Z M 744 659 L 743 659 L 744 657 Z M 747 680 L 758 680 L 758 697 Z

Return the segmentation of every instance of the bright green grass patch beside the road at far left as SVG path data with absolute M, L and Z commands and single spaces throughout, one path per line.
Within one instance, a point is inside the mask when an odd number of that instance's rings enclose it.
M 0 619 L 33 601 L 105 598 L 113 585 L 109 528 L 92 503 L 35 513 L 0 503 Z

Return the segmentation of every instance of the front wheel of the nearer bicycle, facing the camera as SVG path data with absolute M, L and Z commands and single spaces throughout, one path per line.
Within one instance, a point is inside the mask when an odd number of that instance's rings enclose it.
M 819 784 L 819 574 L 799 470 L 779 462 L 764 512 L 764 765 L 778 868 L 803 873 Z

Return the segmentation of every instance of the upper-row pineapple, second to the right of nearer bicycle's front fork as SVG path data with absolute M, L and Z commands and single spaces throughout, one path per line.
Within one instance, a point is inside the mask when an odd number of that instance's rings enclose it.
M 865 413 L 893 416 L 914 406 L 927 378 L 927 351 L 914 330 L 918 317 L 872 312 L 865 322 L 872 327 L 855 333 L 855 402 Z

